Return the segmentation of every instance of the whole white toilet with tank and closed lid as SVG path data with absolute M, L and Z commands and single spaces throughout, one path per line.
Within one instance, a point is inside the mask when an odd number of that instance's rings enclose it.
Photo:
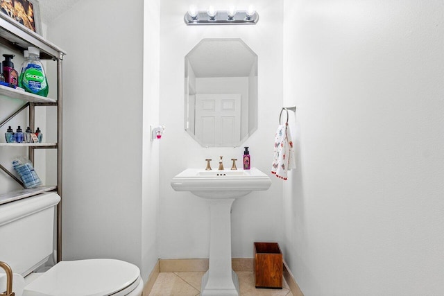
M 53 254 L 58 202 L 56 193 L 42 193 L 0 205 L 0 261 L 10 265 L 15 274 L 15 296 L 142 295 L 140 270 L 125 261 L 60 261 L 46 272 L 34 272 Z

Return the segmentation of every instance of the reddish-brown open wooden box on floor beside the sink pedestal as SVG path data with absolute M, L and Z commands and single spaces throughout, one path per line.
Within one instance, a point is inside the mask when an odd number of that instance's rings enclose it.
M 282 289 L 282 252 L 278 243 L 255 243 L 256 288 Z

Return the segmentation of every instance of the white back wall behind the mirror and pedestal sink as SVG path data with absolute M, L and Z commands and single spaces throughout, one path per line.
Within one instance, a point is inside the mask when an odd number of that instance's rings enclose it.
M 184 58 L 203 38 L 241 38 L 259 56 L 259 114 L 257 131 L 244 143 L 250 146 L 251 164 L 271 175 L 273 139 L 282 107 L 282 1 L 255 1 L 260 20 L 255 26 L 186 26 L 183 17 L 191 4 L 206 9 L 207 1 L 163 0 L 160 23 L 160 121 L 166 125 L 160 144 L 159 254 L 162 259 L 208 258 L 209 207 L 191 193 L 171 189 L 171 178 L 188 167 L 205 168 L 219 155 L 225 166 L 240 159 L 244 148 L 202 148 L 184 130 Z M 216 9 L 230 1 L 216 0 Z M 237 1 L 246 9 L 250 1 Z M 232 256 L 252 257 L 254 241 L 281 241 L 282 186 L 272 177 L 268 191 L 250 193 L 234 202 Z

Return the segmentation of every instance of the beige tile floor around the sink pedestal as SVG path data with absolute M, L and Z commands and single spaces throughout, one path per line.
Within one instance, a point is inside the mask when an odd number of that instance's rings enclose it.
M 198 296 L 205 272 L 160 272 L 149 296 Z M 236 272 L 241 296 L 293 296 L 283 279 L 281 289 L 257 289 L 253 272 Z

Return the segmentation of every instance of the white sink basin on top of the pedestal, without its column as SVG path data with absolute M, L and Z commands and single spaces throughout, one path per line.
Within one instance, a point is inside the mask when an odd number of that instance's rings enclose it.
M 257 168 L 237 171 L 187 168 L 171 180 L 171 187 L 176 191 L 191 191 L 200 198 L 210 199 L 240 198 L 270 186 L 270 177 Z

